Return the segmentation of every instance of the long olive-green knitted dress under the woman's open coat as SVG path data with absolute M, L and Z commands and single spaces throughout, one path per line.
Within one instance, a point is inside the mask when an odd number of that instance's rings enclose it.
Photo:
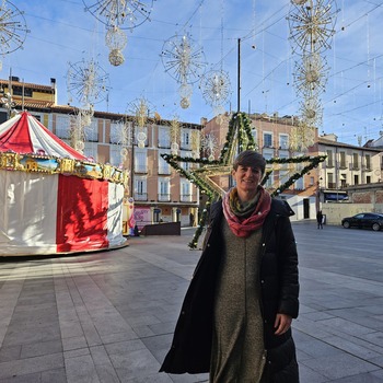
M 222 220 L 222 254 L 214 301 L 211 383 L 260 383 L 265 365 L 260 315 L 262 229 L 235 236 Z

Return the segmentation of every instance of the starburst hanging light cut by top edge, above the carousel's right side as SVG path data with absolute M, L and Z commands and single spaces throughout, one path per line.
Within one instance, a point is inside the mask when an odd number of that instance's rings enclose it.
M 106 25 L 106 46 L 109 62 L 117 67 L 124 63 L 123 50 L 127 36 L 121 30 L 134 30 L 150 18 L 154 0 L 82 0 L 85 11 Z

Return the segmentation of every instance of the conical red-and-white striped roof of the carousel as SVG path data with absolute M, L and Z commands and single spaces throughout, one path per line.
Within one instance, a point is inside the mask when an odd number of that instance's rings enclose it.
M 0 151 L 85 160 L 84 155 L 56 137 L 27 112 L 0 125 Z

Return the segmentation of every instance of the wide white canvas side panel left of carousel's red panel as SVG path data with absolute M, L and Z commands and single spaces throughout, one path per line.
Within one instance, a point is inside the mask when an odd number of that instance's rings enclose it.
M 1 252 L 56 253 L 57 187 L 58 175 L 0 170 Z

